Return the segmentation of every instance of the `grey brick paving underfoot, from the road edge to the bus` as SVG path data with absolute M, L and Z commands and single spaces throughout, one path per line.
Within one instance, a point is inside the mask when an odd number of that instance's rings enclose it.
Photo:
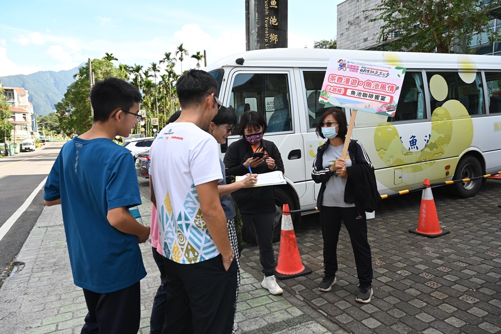
M 140 190 L 148 203 L 146 180 L 140 180 Z M 305 216 L 295 226 L 303 262 L 313 273 L 280 282 L 283 296 L 271 296 L 260 287 L 259 251 L 246 248 L 239 332 L 501 333 L 501 182 L 487 180 L 468 199 L 436 188 L 433 195 L 440 226 L 450 234 L 431 239 L 408 232 L 417 227 L 419 193 L 384 200 L 369 221 L 374 267 L 370 304 L 354 300 L 356 270 L 344 227 L 338 281 L 329 292 L 318 290 L 323 272 L 318 216 Z M 149 216 L 150 207 L 140 207 L 143 217 Z M 141 281 L 140 332 L 147 333 L 159 279 L 150 248 L 141 247 L 149 274 Z M 274 247 L 278 251 L 279 244 Z M 0 332 L 79 332 L 85 302 L 72 283 L 58 207 L 44 209 L 17 260 L 26 264 L 0 288 Z

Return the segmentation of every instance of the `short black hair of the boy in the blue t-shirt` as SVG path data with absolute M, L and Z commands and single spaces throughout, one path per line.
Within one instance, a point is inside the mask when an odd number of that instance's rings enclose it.
M 106 122 L 116 109 L 128 112 L 134 102 L 141 102 L 139 90 L 125 80 L 106 78 L 97 82 L 91 90 L 94 122 Z

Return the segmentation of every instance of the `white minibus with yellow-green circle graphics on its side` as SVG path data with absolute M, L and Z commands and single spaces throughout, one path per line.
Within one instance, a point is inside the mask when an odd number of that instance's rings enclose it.
M 381 195 L 501 170 L 501 61 L 495 56 L 402 52 L 271 49 L 243 52 L 204 70 L 219 84 L 219 99 L 265 116 L 267 139 L 279 148 L 287 185 L 276 186 L 276 204 L 315 208 L 320 188 L 311 178 L 315 128 L 329 59 L 360 60 L 407 69 L 395 117 L 358 112 L 353 139 L 376 169 Z M 430 84 L 431 81 L 431 84 Z M 351 110 L 344 109 L 348 121 Z M 235 132 L 236 133 L 236 132 Z M 229 143 L 238 139 L 228 138 Z M 225 146 L 221 146 L 221 157 Z M 481 180 L 451 187 L 473 196 Z M 300 217 L 294 217 L 295 221 Z M 280 226 L 278 226 L 280 228 Z

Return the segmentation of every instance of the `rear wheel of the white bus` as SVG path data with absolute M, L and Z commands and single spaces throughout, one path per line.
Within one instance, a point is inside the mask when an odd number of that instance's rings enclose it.
M 456 166 L 456 172 L 454 173 L 454 180 L 469 179 L 481 175 L 482 166 L 480 162 L 477 158 L 469 155 L 459 160 Z M 459 182 L 454 183 L 451 190 L 455 196 L 467 198 L 475 196 L 481 184 L 482 180 Z

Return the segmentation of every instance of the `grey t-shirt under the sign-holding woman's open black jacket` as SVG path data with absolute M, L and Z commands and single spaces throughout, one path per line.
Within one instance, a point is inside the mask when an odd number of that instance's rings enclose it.
M 341 158 L 341 153 L 343 152 L 343 145 L 340 146 L 332 146 L 329 145 L 327 149 L 324 151 L 324 155 L 322 157 L 322 167 L 327 168 L 331 165 L 331 163 Z M 351 159 L 348 157 L 346 160 L 346 167 L 351 167 Z M 346 187 L 346 182 L 348 179 L 346 177 L 336 176 L 334 173 L 333 176 L 327 181 L 325 185 L 324 197 L 322 199 L 322 205 L 324 206 L 338 206 L 343 208 L 353 207 L 355 204 L 346 203 L 344 201 L 344 191 Z

